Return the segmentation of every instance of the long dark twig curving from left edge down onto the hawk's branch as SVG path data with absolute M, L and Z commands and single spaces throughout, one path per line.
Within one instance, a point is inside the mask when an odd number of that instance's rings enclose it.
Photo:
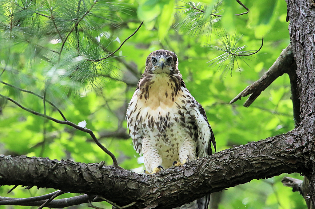
M 18 102 L 15 101 L 14 99 L 11 99 L 11 98 L 9 98 L 9 97 L 6 97 L 6 96 L 4 96 L 4 95 L 2 95 L 2 94 L 0 94 L 0 97 L 2 97 L 2 98 L 4 98 L 4 99 L 7 99 L 7 100 L 9 100 L 9 101 L 11 101 L 11 102 L 13 102 L 15 105 L 18 105 L 18 106 L 19 106 L 20 108 L 22 108 L 23 110 L 26 110 L 27 112 L 30 112 L 30 113 L 32 113 L 32 114 L 34 114 L 34 115 L 38 115 L 38 116 L 47 118 L 47 119 L 49 119 L 49 120 L 51 120 L 51 121 L 54 121 L 54 122 L 56 122 L 56 123 L 66 124 L 66 125 L 72 126 L 73 128 L 76 128 L 76 129 L 78 129 L 78 130 L 80 130 L 80 131 L 83 131 L 83 132 L 88 133 L 88 134 L 92 137 L 93 141 L 97 144 L 97 146 L 99 146 L 106 154 L 108 154 L 109 156 L 111 156 L 111 158 L 112 158 L 112 160 L 113 160 L 113 165 L 114 165 L 114 167 L 115 167 L 115 168 L 119 168 L 119 169 L 123 169 L 123 168 L 121 168 L 120 166 L 118 166 L 117 159 L 116 159 L 115 155 L 114 155 L 113 153 L 111 153 L 106 147 L 104 147 L 104 146 L 97 140 L 97 138 L 95 137 L 95 135 L 94 135 L 94 133 L 93 133 L 92 130 L 90 130 L 90 129 L 88 129 L 88 128 L 83 128 L 83 127 L 81 127 L 81 126 L 78 126 L 78 125 L 76 125 L 76 124 L 74 124 L 74 123 L 72 123 L 72 122 L 70 122 L 70 121 L 60 121 L 60 120 L 57 120 L 57 119 L 55 119 L 55 118 L 53 118 L 53 117 L 50 117 L 50 116 L 48 116 L 48 115 L 44 115 L 44 114 L 41 114 L 41 113 L 36 112 L 36 111 L 34 111 L 34 110 L 31 110 L 31 109 L 29 109 L 29 108 L 27 108 L 27 107 L 22 106 L 20 103 L 18 103 Z

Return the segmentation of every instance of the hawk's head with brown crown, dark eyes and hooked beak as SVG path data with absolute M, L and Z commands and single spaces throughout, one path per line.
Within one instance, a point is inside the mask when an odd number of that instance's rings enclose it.
M 174 52 L 168 50 L 153 51 L 146 58 L 146 70 L 145 73 L 178 73 L 178 61 Z

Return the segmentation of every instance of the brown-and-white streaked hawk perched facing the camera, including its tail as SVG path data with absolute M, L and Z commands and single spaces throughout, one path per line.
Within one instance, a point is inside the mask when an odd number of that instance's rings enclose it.
M 153 51 L 128 105 L 126 120 L 146 173 L 181 166 L 212 154 L 215 137 L 203 107 L 192 97 L 174 52 Z M 207 209 L 210 195 L 182 208 Z

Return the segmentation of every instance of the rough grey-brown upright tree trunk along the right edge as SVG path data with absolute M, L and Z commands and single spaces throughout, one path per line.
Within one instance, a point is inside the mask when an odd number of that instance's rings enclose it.
M 299 135 L 309 140 L 308 150 L 312 160 L 310 196 L 315 202 L 314 121 L 315 121 L 315 4 L 313 0 L 286 0 L 290 20 L 289 33 L 299 83 L 301 122 Z

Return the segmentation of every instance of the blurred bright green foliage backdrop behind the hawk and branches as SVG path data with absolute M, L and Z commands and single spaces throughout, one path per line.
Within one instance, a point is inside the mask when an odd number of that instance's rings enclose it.
M 60 51 L 62 41 L 49 16 L 53 15 L 56 27 L 65 38 L 74 27 L 75 19 L 83 17 L 93 1 L 82 1 L 80 14 L 76 10 L 77 0 L 47 0 L 36 4 L 30 1 L 30 5 L 26 5 L 27 1 L 0 1 L 0 73 L 3 72 L 0 79 L 41 95 L 49 83 L 47 99 L 54 102 L 69 121 L 78 124 L 85 120 L 87 128 L 93 130 L 102 144 L 115 154 L 119 165 L 136 172 L 141 172 L 144 166 L 138 163 L 139 156 L 132 147 L 131 139 L 125 139 L 117 131 L 128 133 L 124 121 L 126 105 L 144 71 L 147 55 L 154 50 L 167 49 L 177 54 L 178 67 L 187 88 L 207 112 L 217 151 L 282 134 L 294 128 L 290 83 L 286 74 L 277 78 L 248 108 L 242 106 L 244 100 L 229 104 L 271 67 L 290 42 L 284 0 L 242 2 L 250 12 L 235 16 L 233 14 L 246 10 L 233 0 L 223 1 L 223 10 L 220 11 L 223 16 L 219 22 L 227 32 L 243 35 L 239 46 L 248 45 L 247 50 L 257 50 L 261 37 L 264 37 L 264 46 L 260 53 L 244 59 L 246 63 L 238 62 L 240 71 L 235 67 L 232 74 L 225 76 L 222 71 L 207 64 L 221 55 L 220 51 L 204 47 L 206 44 L 220 44 L 214 33 L 210 39 L 207 33 L 192 37 L 189 31 L 174 29 L 185 18 L 185 13 L 174 15 L 178 12 L 176 5 L 185 6 L 185 2 L 123 0 L 113 1 L 108 6 L 106 2 L 99 1 L 83 18 L 76 32 L 69 36 L 58 63 L 58 53 L 53 51 Z M 202 4 L 211 6 L 216 2 L 205 0 Z M 51 9 L 49 5 L 52 5 Z M 30 9 L 25 12 L 21 9 L 23 7 Z M 144 27 L 116 52 L 115 56 L 122 57 L 110 57 L 103 62 L 76 60 L 77 56 L 84 59 L 106 56 L 109 51 L 116 50 L 141 21 L 144 21 Z M 78 41 L 79 52 L 76 47 Z M 127 64 L 119 62 L 122 60 Z M 43 113 L 43 101 L 34 95 L 3 84 L 0 84 L 0 94 Z M 62 120 L 48 104 L 47 114 Z M 112 163 L 88 134 L 47 121 L 3 100 L 0 100 L 0 153 L 84 163 L 103 160 L 107 165 Z M 253 180 L 229 188 L 222 192 L 219 208 L 306 208 L 302 196 L 281 184 L 284 176 Z M 298 174 L 290 176 L 302 178 Z M 29 197 L 53 191 L 37 188 L 22 190 L 18 187 L 7 195 L 11 187 L 0 187 L 0 196 Z M 68 196 L 72 194 L 64 194 L 60 198 Z M 106 203 L 95 205 L 110 208 Z M 86 208 L 86 205 L 77 206 L 81 207 Z M 0 206 L 2 208 L 12 207 Z

